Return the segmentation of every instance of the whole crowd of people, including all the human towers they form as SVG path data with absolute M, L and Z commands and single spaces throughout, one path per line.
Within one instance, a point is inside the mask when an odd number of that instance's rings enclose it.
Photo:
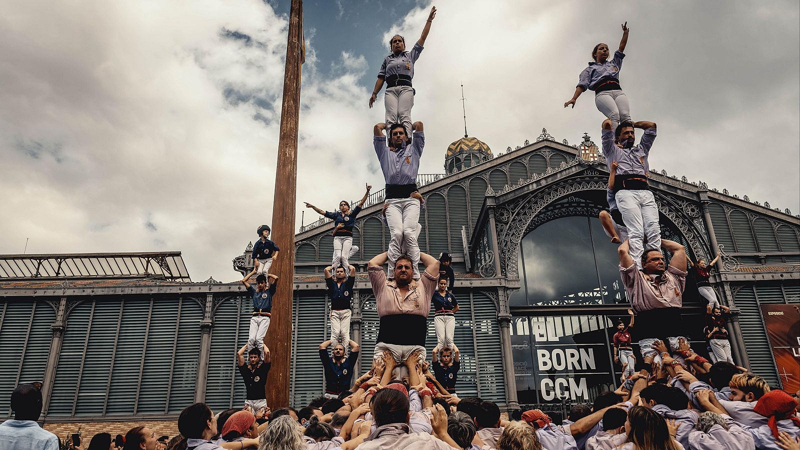
M 254 268 L 242 279 L 253 299 L 246 344 L 236 353 L 246 386 L 240 408 L 214 412 L 208 405 L 186 406 L 177 420 L 178 436 L 156 434 L 145 425 L 112 439 L 93 436 L 81 450 L 800 450 L 798 393 L 770 388 L 766 381 L 734 365 L 726 331 L 730 308 L 717 299 L 709 282 L 710 263 L 694 263 L 684 247 L 662 239 L 658 207 L 648 185 L 648 157 L 656 124 L 633 122 L 618 73 L 630 30 L 613 58 L 606 44 L 592 52 L 593 62 L 579 78 L 575 94 L 594 90 L 602 123 L 602 151 L 609 164 L 606 198 L 600 215 L 612 242 L 619 243 L 622 283 L 631 308 L 630 321 L 617 323 L 614 362 L 622 367 L 620 385 L 599 393 L 593 404 L 576 404 L 557 424 L 540 409 L 512 411 L 505 417 L 498 404 L 458 396 L 461 355 L 455 345 L 458 300 L 454 295 L 452 258 L 420 251 L 419 215 L 424 208 L 417 191 L 419 160 L 425 145 L 421 122 L 412 122 L 414 63 L 422 53 L 436 8 L 430 10 L 422 35 L 410 51 L 402 36 L 390 39 L 370 107 L 386 83 L 386 122 L 374 127 L 374 148 L 386 181 L 382 217 L 390 231 L 386 252 L 370 260 L 367 272 L 376 299 L 379 332 L 371 367 L 354 378 L 360 353 L 350 340 L 355 267 L 350 256 L 355 219 L 370 195 L 357 206 L 339 203 L 338 211 L 319 214 L 334 220 L 334 254 L 325 269 L 330 298 L 330 340 L 319 345 L 325 392 L 302 408 L 270 408 L 266 392 L 271 360 L 266 332 L 270 327 L 278 276 L 270 273 L 280 249 L 270 227 L 258 227 Z M 642 129 L 638 145 L 635 130 Z M 662 253 L 662 248 L 664 252 Z M 425 267 L 420 271 L 419 264 Z M 388 272 L 384 266 L 388 266 Z M 707 326 L 711 361 L 690 348 L 682 330 L 682 296 L 687 265 L 700 294 L 709 301 Z M 255 275 L 256 286 L 250 285 Z M 434 306 L 437 345 L 427 361 L 427 319 Z M 635 327 L 634 327 L 635 324 Z M 280 324 L 287 326 L 287 324 Z M 637 337 L 641 360 L 634 354 Z M 4 450 L 56 450 L 60 442 L 42 429 L 40 384 L 21 384 L 11 394 L 14 420 L 0 424 Z M 295 405 L 299 406 L 299 405 Z

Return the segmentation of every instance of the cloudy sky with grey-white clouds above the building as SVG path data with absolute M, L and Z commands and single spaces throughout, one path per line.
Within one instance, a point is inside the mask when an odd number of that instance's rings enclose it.
M 441 0 L 416 66 L 421 173 L 461 137 L 495 152 L 546 127 L 598 141 L 573 93 L 592 47 L 627 21 L 634 119 L 658 123 L 651 166 L 800 212 L 798 2 Z M 306 0 L 302 201 L 333 209 L 382 187 L 367 107 L 394 32 L 431 3 Z M 182 251 L 195 281 L 270 223 L 289 0 L 6 2 L 0 15 L 0 253 Z M 320 180 L 326 187 L 320 189 Z M 306 211 L 306 223 L 317 219 Z

